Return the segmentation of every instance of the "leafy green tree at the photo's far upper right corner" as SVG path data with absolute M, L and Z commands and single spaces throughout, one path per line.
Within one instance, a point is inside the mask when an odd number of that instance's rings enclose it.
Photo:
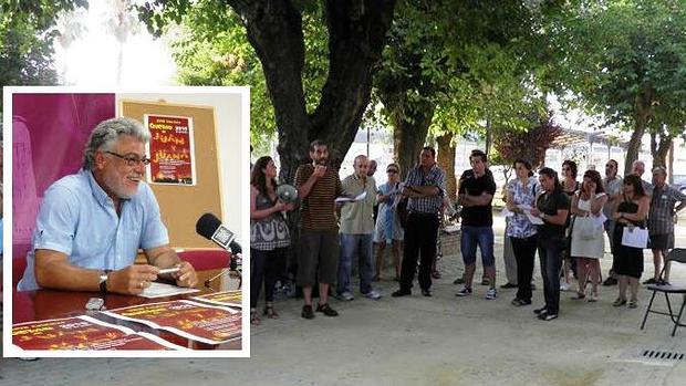
M 643 135 L 686 103 L 686 1 L 582 1 L 551 25 L 562 88 L 610 123 L 632 131 L 625 170 Z M 656 116 L 656 106 L 664 112 Z

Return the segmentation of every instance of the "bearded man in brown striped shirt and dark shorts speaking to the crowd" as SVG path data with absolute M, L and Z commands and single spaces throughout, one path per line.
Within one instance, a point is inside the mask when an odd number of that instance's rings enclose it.
M 326 166 L 329 147 L 315 139 L 310 144 L 311 164 L 301 165 L 295 171 L 295 188 L 302 200 L 300 226 L 301 252 L 298 255 L 297 284 L 302 286 L 305 304 L 301 316 L 313 319 L 312 285 L 319 281 L 318 312 L 337 316 L 329 303 L 329 285 L 336 280 L 339 265 L 339 225 L 334 200 L 343 189 L 339 174 Z

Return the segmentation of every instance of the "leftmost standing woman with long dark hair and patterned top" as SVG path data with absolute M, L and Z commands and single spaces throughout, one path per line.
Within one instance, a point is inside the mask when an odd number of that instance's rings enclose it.
M 277 197 L 277 166 L 269 156 L 260 157 L 250 176 L 250 323 L 260 324 L 257 302 L 264 284 L 264 315 L 277 319 L 273 306 L 277 275 L 283 270 L 291 243 L 282 212 L 293 210 Z

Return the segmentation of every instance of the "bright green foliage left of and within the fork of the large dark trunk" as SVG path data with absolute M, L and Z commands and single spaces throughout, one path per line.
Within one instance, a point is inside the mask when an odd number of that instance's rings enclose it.
M 163 10 L 146 4 L 142 18 L 152 20 L 153 32 L 167 32 L 172 39 L 181 84 L 250 86 L 250 139 L 256 154 L 267 153 L 277 136 L 274 111 L 262 65 L 240 17 L 222 1 L 199 0 L 188 6 L 179 1 L 180 8 Z M 303 88 L 308 112 L 312 112 L 329 69 L 328 35 L 321 7 L 303 7 Z

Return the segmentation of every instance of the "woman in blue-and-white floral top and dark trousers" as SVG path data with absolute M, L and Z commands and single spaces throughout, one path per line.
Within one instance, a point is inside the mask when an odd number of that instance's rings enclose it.
M 507 208 L 514 215 L 507 222 L 505 233 L 512 241 L 512 250 L 517 260 L 517 295 L 512 305 L 531 304 L 531 278 L 533 275 L 533 260 L 538 242 L 538 230 L 527 212 L 536 206 L 538 181 L 532 177 L 531 164 L 518 159 L 514 161 L 517 178 L 508 184 Z

